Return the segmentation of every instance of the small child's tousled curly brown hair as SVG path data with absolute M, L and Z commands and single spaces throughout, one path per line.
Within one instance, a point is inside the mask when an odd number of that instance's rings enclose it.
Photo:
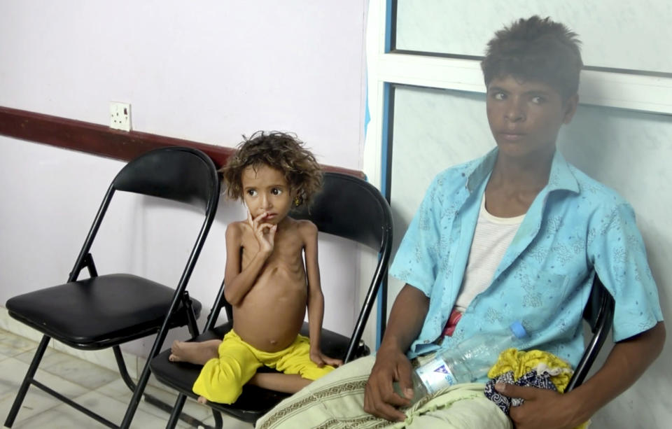
M 243 139 L 235 155 L 221 169 L 227 197 L 243 197 L 244 169 L 267 165 L 281 171 L 290 189 L 296 192 L 295 206 L 310 203 L 311 197 L 322 187 L 322 169 L 302 141 L 293 134 L 263 131 Z

